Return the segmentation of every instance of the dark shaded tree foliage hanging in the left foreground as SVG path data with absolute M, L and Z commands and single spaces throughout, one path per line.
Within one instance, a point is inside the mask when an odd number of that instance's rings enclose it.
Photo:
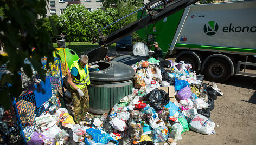
M 0 104 L 8 108 L 11 102 L 9 95 L 18 97 L 23 89 L 19 74 L 21 68 L 31 77 L 33 67 L 44 81 L 46 71 L 42 69 L 41 60 L 46 57 L 47 64 L 53 62 L 55 48 L 46 27 L 43 27 L 45 0 L 0 0 L 0 8 L 1 14 L 4 15 L 4 18 L 0 19 L 0 40 L 8 54 L 0 55 L 0 65 L 6 64 L 10 72 L 2 75 L 0 80 Z M 6 84 L 10 84 L 9 87 Z

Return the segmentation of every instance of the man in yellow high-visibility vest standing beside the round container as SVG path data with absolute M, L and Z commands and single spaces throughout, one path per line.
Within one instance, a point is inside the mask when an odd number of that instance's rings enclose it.
M 71 97 L 74 107 L 74 121 L 79 123 L 85 120 L 89 108 L 89 94 L 87 85 L 90 84 L 88 68 L 99 68 L 99 65 L 88 65 L 87 55 L 81 55 L 80 58 L 71 65 L 71 73 L 67 82 L 71 87 Z

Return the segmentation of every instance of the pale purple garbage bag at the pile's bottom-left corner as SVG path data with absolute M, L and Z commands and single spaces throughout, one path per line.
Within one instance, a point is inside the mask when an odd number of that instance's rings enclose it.
M 31 135 L 31 139 L 28 142 L 28 145 L 32 144 L 44 144 L 45 141 L 48 140 L 50 144 L 54 144 L 54 140 L 52 138 L 49 138 L 47 136 L 44 136 L 42 133 L 37 133 L 37 131 L 34 131 L 34 133 Z

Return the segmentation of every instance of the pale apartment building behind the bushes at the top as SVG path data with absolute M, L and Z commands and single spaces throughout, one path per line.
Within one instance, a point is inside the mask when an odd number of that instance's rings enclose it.
M 49 3 L 47 2 L 48 7 L 46 7 L 46 16 L 60 16 L 67 6 L 72 4 L 85 5 L 85 8 L 89 11 L 96 10 L 102 5 L 101 0 L 49 0 Z

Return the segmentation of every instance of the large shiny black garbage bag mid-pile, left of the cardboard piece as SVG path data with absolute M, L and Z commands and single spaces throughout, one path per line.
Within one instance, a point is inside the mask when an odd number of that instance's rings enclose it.
M 164 90 L 152 90 L 149 94 L 143 96 L 144 99 L 149 101 L 150 106 L 155 110 L 161 110 L 169 102 L 169 95 Z

